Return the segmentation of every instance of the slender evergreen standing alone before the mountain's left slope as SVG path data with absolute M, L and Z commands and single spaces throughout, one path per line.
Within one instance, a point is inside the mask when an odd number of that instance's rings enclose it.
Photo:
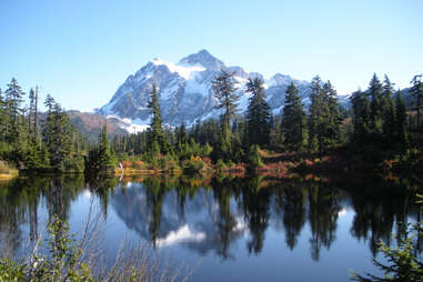
M 162 128 L 162 119 L 160 114 L 160 104 L 158 98 L 158 90 L 155 84 L 153 85 L 150 93 L 150 101 L 148 103 L 152 113 L 151 124 L 150 124 L 150 142 L 151 144 L 157 143 L 160 150 L 164 149 L 164 134 Z

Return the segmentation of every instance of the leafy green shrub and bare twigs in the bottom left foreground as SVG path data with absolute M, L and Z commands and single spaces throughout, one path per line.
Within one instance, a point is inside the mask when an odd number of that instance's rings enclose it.
M 93 230 L 89 230 L 93 232 Z M 69 232 L 69 224 L 54 216 L 46 240 L 38 240 L 26 258 L 0 258 L 0 281 L 187 281 L 189 273 L 172 269 L 145 246 L 125 248 L 111 266 L 90 245 L 90 234 L 80 240 Z

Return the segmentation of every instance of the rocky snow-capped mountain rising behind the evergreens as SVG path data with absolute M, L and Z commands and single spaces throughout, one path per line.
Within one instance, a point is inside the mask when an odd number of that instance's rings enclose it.
M 150 109 L 147 108 L 152 85 L 159 89 L 159 102 L 164 123 L 180 125 L 182 122 L 192 124 L 198 119 L 218 118 L 220 112 L 214 109 L 216 101 L 212 94 L 212 80 L 221 71 L 235 73 L 236 87 L 241 94 L 240 113 L 248 107 L 249 93 L 244 87 L 249 78 L 261 78 L 265 81 L 266 100 L 273 113 L 280 113 L 283 108 L 285 90 L 293 82 L 300 91 L 303 101 L 308 103 L 310 82 L 292 79 L 290 75 L 276 73 L 264 79 L 258 72 L 246 72 L 241 67 L 226 67 L 222 61 L 207 50 L 190 54 L 178 63 L 153 59 L 135 74 L 128 77 L 119 87 L 110 102 L 98 110 L 104 117 L 120 118 L 133 124 L 150 123 Z M 140 127 L 140 130 L 145 127 Z

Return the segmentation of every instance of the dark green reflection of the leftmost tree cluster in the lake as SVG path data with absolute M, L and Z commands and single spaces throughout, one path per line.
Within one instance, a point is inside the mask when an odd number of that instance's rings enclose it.
M 27 175 L 0 183 L 0 243 L 14 255 L 23 242 L 22 225 L 29 224 L 30 241 L 39 234 L 39 205 L 43 199 L 49 220 L 69 219 L 71 203 L 84 189 L 82 175 Z

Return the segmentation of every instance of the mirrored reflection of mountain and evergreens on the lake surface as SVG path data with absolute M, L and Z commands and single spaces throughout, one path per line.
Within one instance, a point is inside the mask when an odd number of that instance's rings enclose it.
M 0 243 L 16 253 L 26 239 L 23 225 L 29 226 L 28 238 L 37 239 L 40 209 L 49 220 L 58 214 L 69 221 L 72 203 L 89 191 L 104 219 L 112 209 L 127 229 L 155 248 L 178 244 L 200 255 L 234 260 L 234 245 L 241 241 L 250 255 L 260 255 L 269 230 L 283 234 L 292 251 L 309 226 L 310 256 L 319 261 L 321 250 L 330 250 L 336 240 L 340 215 L 353 211 L 351 236 L 369 241 L 375 255 L 380 240 L 390 244 L 392 232 L 405 235 L 405 224 L 420 216 L 415 183 L 27 175 L 0 184 Z

